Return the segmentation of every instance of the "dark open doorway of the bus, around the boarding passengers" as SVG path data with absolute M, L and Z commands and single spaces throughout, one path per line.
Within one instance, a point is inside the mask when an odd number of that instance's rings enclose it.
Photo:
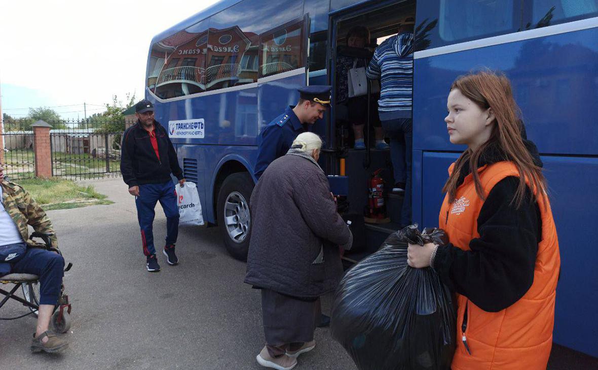
M 331 132 L 334 138 L 326 171 L 340 174 L 344 168 L 349 182 L 349 213 L 361 221 L 364 229 L 361 233 L 364 238 L 356 239 L 344 258 L 349 262 L 376 251 L 389 233 L 401 227 L 400 211 L 404 198 L 402 194 L 390 191 L 395 181 L 389 148 L 376 147 L 376 139 L 385 137 L 378 115 L 379 83 L 373 81 L 365 95 L 356 95 L 349 93 L 348 75 L 350 69 L 365 70 L 376 47 L 398 33 L 402 20 L 415 17 L 415 1 L 373 3 L 361 3 L 329 13 L 331 53 L 328 65 L 331 72 L 328 78 L 332 85 Z M 349 42 L 352 35 L 359 35 L 365 42 Z M 360 137 L 364 139 L 365 149 L 355 141 Z M 382 194 L 370 192 L 374 182 L 383 183 Z M 382 198 L 383 206 L 373 208 L 373 197 Z M 379 201 L 374 202 L 376 206 L 380 205 Z

